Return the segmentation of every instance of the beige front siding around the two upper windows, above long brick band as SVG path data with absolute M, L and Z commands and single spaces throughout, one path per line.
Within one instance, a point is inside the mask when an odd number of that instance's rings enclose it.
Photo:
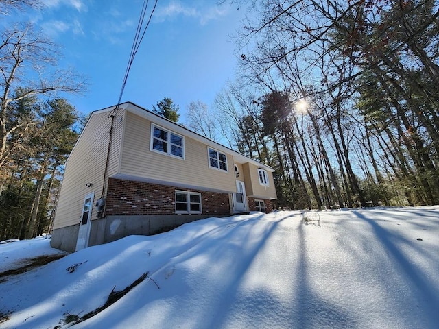
M 163 128 L 175 132 L 172 125 Z M 177 183 L 212 191 L 236 192 L 233 157 L 227 154 L 227 173 L 211 169 L 207 145 L 188 136 L 184 137 L 184 160 L 151 151 L 151 121 L 127 112 L 120 173 L 166 184 Z

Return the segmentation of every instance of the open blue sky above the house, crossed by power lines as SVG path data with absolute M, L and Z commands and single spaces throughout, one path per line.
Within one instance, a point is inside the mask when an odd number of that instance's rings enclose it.
M 62 95 L 86 114 L 117 103 L 143 0 L 44 0 L 19 16 L 62 46 L 61 67 L 88 79 L 86 95 Z M 154 1 L 149 1 L 152 9 Z M 180 106 L 215 95 L 234 79 L 238 59 L 230 35 L 244 10 L 215 0 L 158 0 L 128 77 L 122 101 L 151 109 L 164 97 Z M 147 15 L 149 15 L 150 10 Z

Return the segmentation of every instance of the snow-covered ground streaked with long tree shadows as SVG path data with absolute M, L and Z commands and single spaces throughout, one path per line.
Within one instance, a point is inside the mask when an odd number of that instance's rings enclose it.
M 49 239 L 6 243 L 0 272 L 57 253 Z M 0 275 L 1 317 L 0 328 L 438 329 L 439 206 L 252 213 L 128 236 Z

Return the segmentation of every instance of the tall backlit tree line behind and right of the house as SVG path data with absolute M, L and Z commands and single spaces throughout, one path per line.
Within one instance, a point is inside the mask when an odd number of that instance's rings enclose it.
M 439 204 L 438 1 L 224 2 L 239 82 L 190 125 L 276 169 L 278 208 Z

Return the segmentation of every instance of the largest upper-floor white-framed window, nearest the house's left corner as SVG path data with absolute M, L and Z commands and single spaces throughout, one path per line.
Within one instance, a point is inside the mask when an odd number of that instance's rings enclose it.
M 170 130 L 152 125 L 151 150 L 162 152 L 168 156 L 185 158 L 185 138 Z

